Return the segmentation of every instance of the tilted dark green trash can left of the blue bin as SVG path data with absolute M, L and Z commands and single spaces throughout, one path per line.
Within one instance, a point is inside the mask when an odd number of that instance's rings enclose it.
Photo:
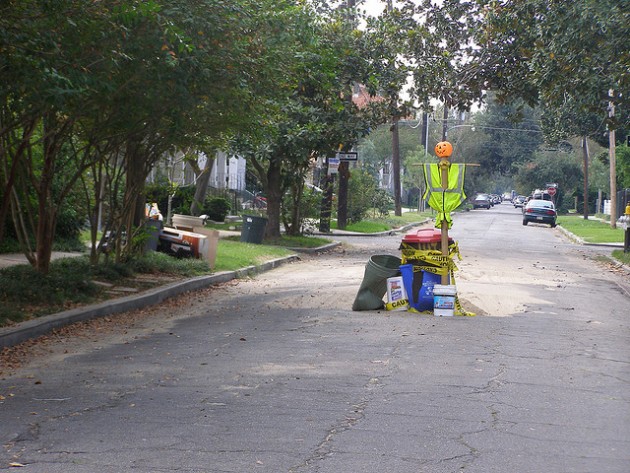
M 377 310 L 385 306 L 387 278 L 398 276 L 400 258 L 392 255 L 371 256 L 365 265 L 361 287 L 352 304 L 352 310 Z

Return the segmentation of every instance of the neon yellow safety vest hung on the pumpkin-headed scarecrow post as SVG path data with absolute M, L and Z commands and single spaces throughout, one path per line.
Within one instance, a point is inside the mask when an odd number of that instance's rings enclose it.
M 435 226 L 440 228 L 442 221 L 448 222 L 448 228 L 453 225 L 451 212 L 464 203 L 464 172 L 466 166 L 463 164 L 449 164 L 448 167 L 448 188 L 442 189 L 442 171 L 439 164 L 427 163 L 424 165 L 424 183 L 426 190 L 423 199 L 427 200 L 429 206 L 438 212 L 435 218 Z

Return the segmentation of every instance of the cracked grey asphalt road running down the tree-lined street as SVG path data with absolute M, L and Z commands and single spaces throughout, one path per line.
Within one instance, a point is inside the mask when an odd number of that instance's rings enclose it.
M 352 312 L 401 236 L 112 318 L 0 380 L 0 471 L 630 471 L 627 274 L 502 204 L 455 217 L 476 317 Z

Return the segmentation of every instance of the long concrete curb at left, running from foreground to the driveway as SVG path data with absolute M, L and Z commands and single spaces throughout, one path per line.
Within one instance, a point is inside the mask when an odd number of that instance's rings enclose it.
M 185 292 L 205 289 L 215 284 L 228 282 L 233 279 L 243 279 L 258 273 L 272 270 L 286 263 L 298 261 L 297 255 L 289 255 L 285 258 L 278 258 L 268 261 L 258 266 L 248 266 L 236 271 L 224 271 L 208 276 L 198 276 L 196 278 L 179 281 L 165 286 L 149 289 L 141 294 L 134 294 L 118 299 L 112 299 L 98 304 L 70 309 L 57 314 L 38 317 L 27 320 L 16 326 L 0 329 L 0 349 L 18 345 L 26 340 L 37 338 L 50 333 L 52 330 L 75 322 L 105 317 L 107 315 L 119 314 L 130 310 L 140 309 L 160 302 L 171 297 L 178 296 Z

